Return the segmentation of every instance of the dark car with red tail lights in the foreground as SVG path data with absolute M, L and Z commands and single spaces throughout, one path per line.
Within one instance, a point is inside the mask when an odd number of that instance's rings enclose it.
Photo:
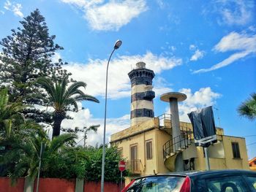
M 122 192 L 256 192 L 256 172 L 216 170 L 138 177 Z

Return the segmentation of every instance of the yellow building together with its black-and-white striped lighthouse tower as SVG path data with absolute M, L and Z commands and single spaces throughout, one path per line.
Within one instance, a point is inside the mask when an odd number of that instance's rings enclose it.
M 127 169 L 134 177 L 206 169 L 203 147 L 195 146 L 191 123 L 178 123 L 180 147 L 175 149 L 173 115 L 154 118 L 151 86 L 154 72 L 145 65 L 140 62 L 137 69 L 129 72 L 132 82 L 131 126 L 112 134 L 110 144 L 121 151 L 127 160 Z M 217 143 L 208 147 L 208 157 L 211 169 L 249 169 L 245 139 L 226 136 L 222 128 L 217 128 Z

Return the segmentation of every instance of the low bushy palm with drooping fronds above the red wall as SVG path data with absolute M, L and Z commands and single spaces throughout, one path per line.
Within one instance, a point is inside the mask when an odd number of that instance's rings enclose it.
M 26 140 L 13 142 L 12 150 L 0 158 L 0 163 L 12 165 L 8 172 L 12 181 L 18 177 L 29 177 L 34 180 L 39 171 L 41 143 L 44 146 L 42 154 L 42 162 L 44 162 L 51 155 L 58 153 L 62 147 L 75 143 L 76 138 L 75 134 L 61 134 L 50 140 L 45 132 L 38 131 L 37 134 L 30 134 Z M 48 167 L 49 165 L 44 164 L 44 166 Z

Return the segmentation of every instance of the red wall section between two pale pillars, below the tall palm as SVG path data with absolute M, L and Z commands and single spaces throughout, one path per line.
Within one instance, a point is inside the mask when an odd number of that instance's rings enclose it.
M 34 191 L 37 190 L 37 179 L 34 180 Z M 40 178 L 39 192 L 75 192 L 75 179 Z

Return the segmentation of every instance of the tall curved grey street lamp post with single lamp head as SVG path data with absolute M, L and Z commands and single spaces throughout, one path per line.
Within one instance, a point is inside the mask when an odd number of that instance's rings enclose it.
M 110 57 L 108 58 L 108 65 L 114 51 L 117 50 L 121 46 L 121 44 L 122 44 L 121 40 L 116 41 L 115 46 L 113 47 L 113 51 L 110 54 Z M 102 148 L 102 180 L 100 185 L 101 192 L 104 192 L 104 174 L 105 174 L 105 139 L 106 139 L 106 118 L 107 118 L 108 65 L 107 65 L 107 72 L 106 72 L 106 90 L 105 90 L 105 115 L 104 115 L 103 148 Z

